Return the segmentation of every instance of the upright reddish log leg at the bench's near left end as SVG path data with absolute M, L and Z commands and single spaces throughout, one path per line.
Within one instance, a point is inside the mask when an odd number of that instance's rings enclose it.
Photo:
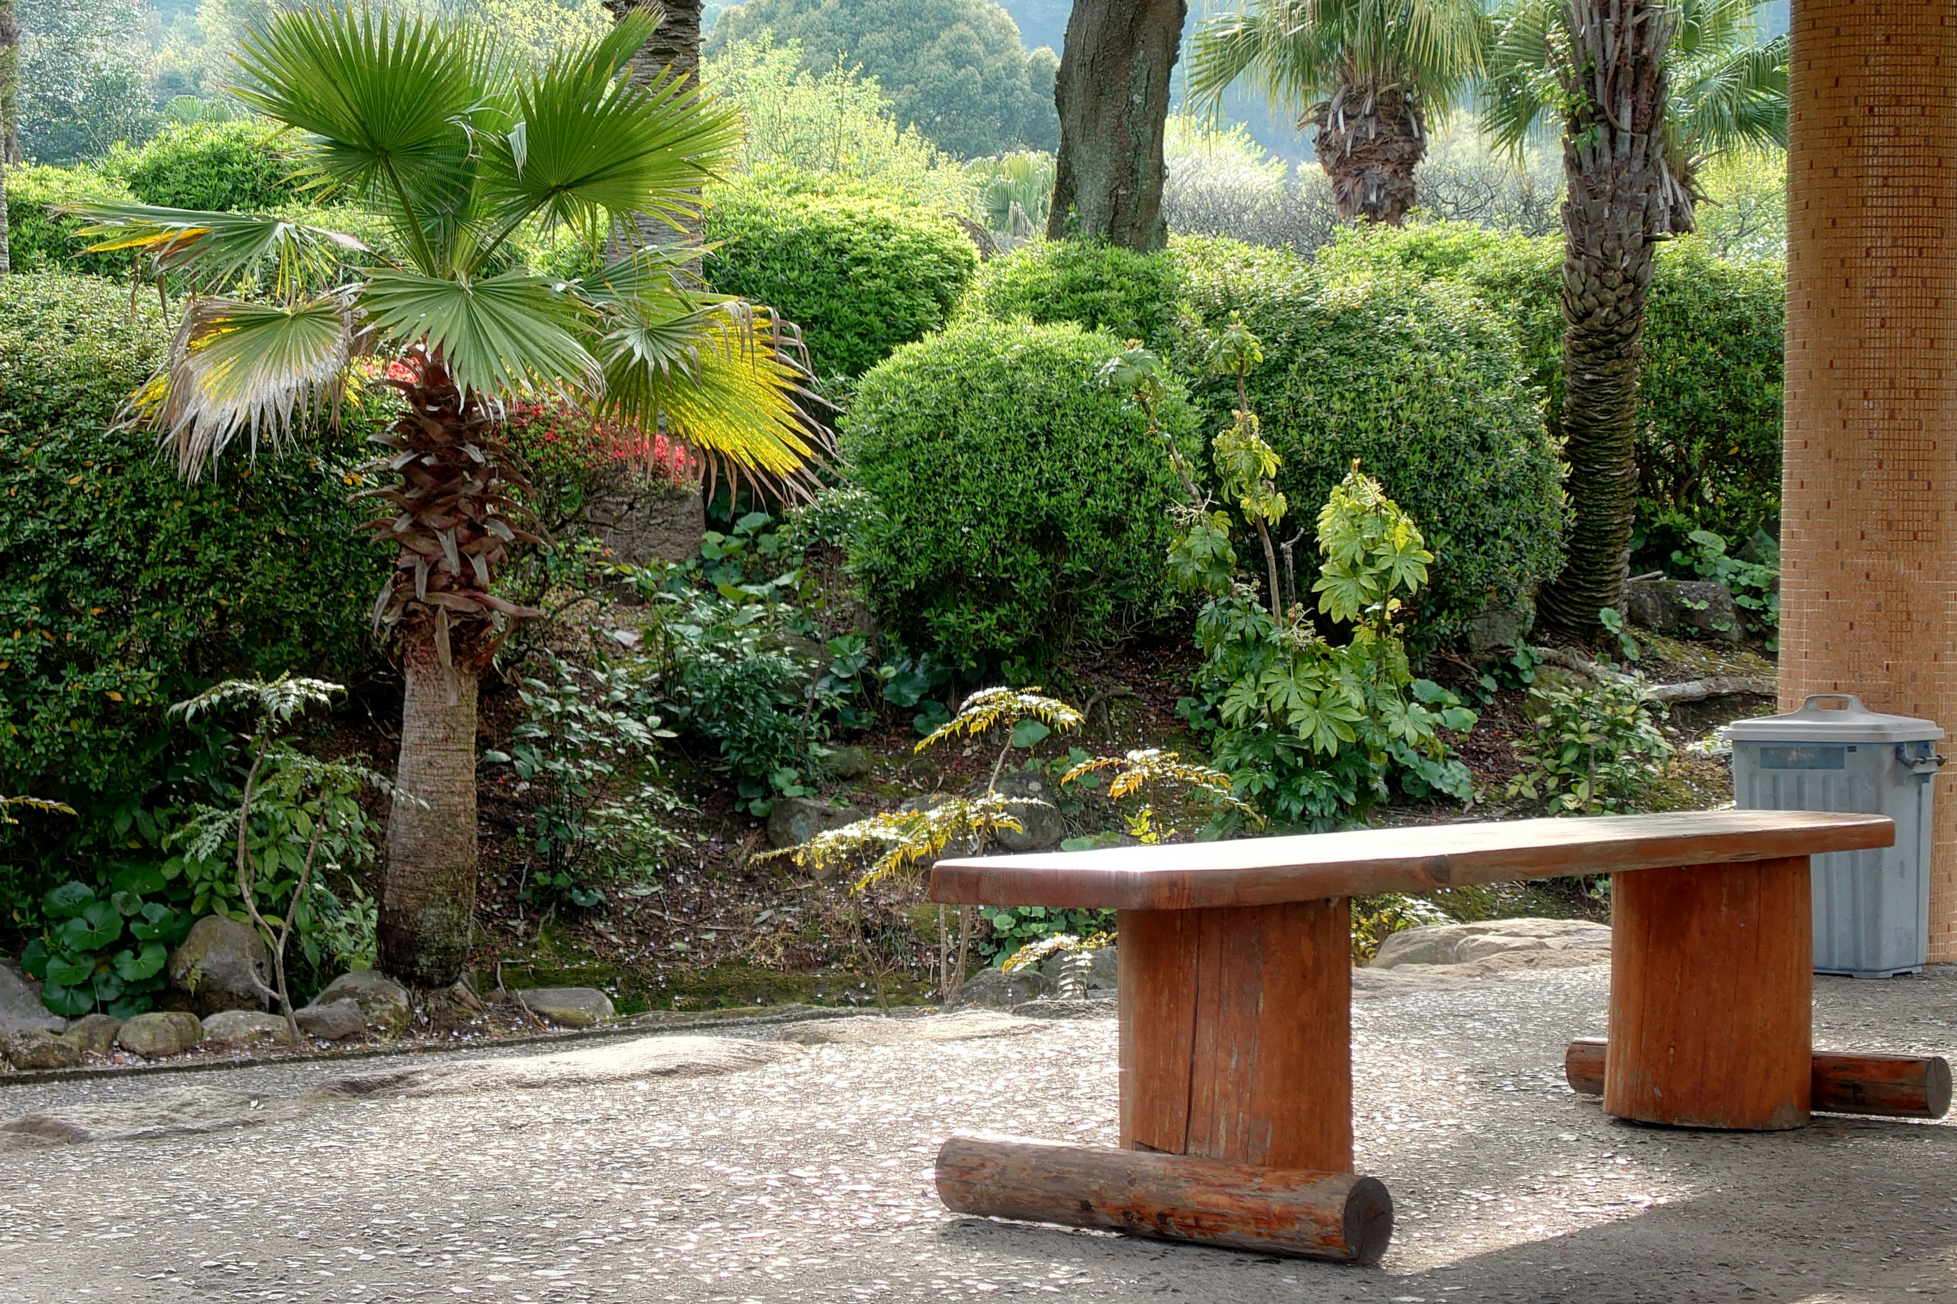
M 1121 911 L 1121 1146 L 1352 1171 L 1343 899 Z

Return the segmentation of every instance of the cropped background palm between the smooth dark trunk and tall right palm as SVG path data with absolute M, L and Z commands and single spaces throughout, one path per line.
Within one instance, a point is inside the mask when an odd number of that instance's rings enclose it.
M 1198 27 L 1190 92 L 1213 108 L 1249 76 L 1272 108 L 1301 109 L 1339 217 L 1397 227 L 1427 125 L 1481 70 L 1483 45 L 1478 0 L 1251 0 Z

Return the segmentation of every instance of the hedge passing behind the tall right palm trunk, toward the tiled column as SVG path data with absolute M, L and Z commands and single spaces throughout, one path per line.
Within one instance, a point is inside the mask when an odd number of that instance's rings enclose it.
M 1560 239 L 1436 223 L 1348 231 L 1319 258 L 1343 276 L 1395 266 L 1472 285 L 1515 326 L 1554 432 L 1564 387 Z M 1658 250 L 1638 381 L 1640 528 L 1669 514 L 1730 538 L 1777 528 L 1785 305 L 1779 260 L 1718 258 L 1697 239 Z

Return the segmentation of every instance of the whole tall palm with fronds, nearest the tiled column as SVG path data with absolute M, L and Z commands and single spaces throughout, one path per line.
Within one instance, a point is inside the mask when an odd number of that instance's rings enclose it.
M 1542 620 L 1593 639 L 1622 602 L 1638 506 L 1644 303 L 1660 240 L 1693 229 L 1697 176 L 1726 149 L 1787 143 L 1787 37 L 1752 41 L 1757 0 L 1511 0 L 1495 20 L 1483 127 L 1509 149 L 1564 133 L 1568 563 Z

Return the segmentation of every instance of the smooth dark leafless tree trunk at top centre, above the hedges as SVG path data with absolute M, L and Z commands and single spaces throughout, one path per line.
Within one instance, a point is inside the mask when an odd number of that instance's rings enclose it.
M 1049 239 L 1168 244 L 1162 125 L 1186 14 L 1182 0 L 1074 0 L 1053 82 L 1061 152 Z

